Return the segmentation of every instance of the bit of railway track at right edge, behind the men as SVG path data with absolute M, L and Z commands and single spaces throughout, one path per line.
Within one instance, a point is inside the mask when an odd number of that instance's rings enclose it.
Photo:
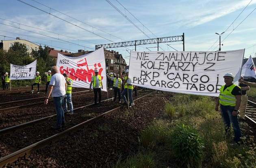
M 256 103 L 248 100 L 245 119 L 256 127 Z

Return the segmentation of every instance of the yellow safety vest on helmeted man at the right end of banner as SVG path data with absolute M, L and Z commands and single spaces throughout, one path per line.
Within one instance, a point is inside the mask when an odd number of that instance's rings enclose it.
M 221 86 L 219 89 L 219 103 L 223 106 L 236 106 L 236 97 L 232 95 L 231 92 L 237 85 L 232 84 L 223 91 L 224 86 L 225 85 Z

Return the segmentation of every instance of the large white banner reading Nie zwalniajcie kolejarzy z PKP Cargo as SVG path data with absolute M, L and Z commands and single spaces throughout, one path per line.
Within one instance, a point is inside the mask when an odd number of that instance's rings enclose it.
M 132 84 L 184 94 L 219 96 L 223 75 L 238 84 L 244 49 L 234 51 L 151 51 L 130 53 Z

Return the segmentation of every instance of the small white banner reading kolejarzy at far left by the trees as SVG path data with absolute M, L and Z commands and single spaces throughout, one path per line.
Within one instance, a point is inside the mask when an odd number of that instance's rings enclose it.
M 10 80 L 34 79 L 36 70 L 37 60 L 24 66 L 11 64 Z

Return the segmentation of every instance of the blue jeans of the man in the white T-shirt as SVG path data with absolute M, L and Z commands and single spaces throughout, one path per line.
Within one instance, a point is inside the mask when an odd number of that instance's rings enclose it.
M 64 111 L 62 108 L 64 97 L 65 95 L 59 96 L 59 97 L 53 97 L 53 102 L 54 102 L 55 110 L 57 114 L 57 122 L 56 122 L 57 127 L 60 127 L 61 123 L 65 122 Z

